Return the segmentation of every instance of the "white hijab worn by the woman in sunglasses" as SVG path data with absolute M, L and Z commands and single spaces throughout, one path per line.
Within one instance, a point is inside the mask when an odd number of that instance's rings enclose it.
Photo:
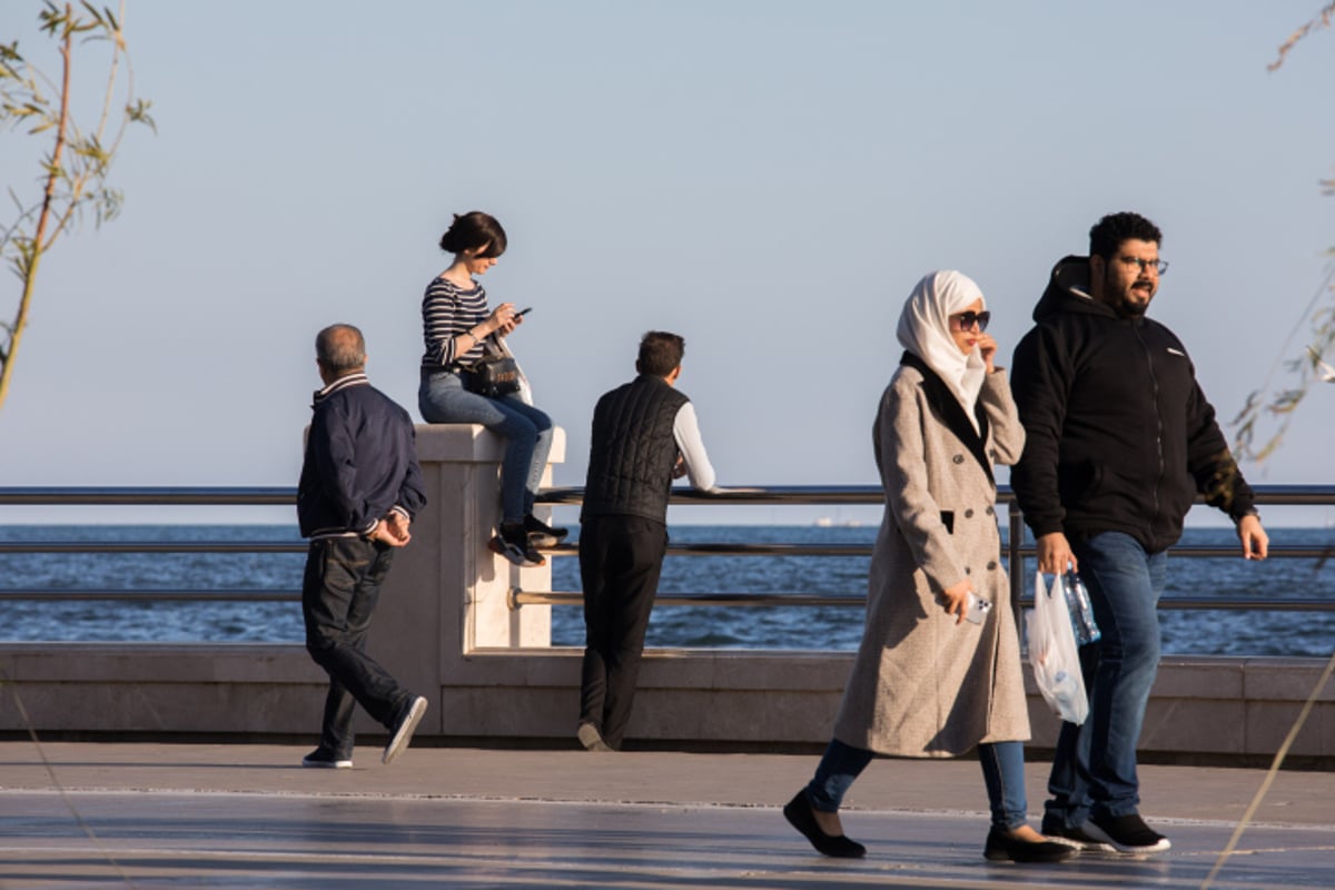
M 949 316 L 963 312 L 976 300 L 983 300 L 983 291 L 969 276 L 949 270 L 930 272 L 904 302 L 897 332 L 900 344 L 922 359 L 951 387 L 975 428 L 979 420 L 973 407 L 983 388 L 987 364 L 979 350 L 968 355 L 960 352 L 951 336 Z M 983 307 L 987 306 L 983 300 Z

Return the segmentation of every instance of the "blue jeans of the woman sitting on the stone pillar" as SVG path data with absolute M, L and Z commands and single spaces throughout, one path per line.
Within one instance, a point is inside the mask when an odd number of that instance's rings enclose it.
M 505 436 L 502 520 L 522 522 L 533 512 L 551 451 L 551 418 L 521 402 L 518 395 L 489 399 L 469 392 L 453 371 L 422 372 L 418 410 L 427 423 L 481 423 Z

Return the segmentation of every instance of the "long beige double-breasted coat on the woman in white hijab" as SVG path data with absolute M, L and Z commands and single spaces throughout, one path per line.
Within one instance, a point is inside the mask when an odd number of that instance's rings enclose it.
M 912 355 L 881 396 L 874 446 L 885 518 L 866 627 L 834 723 L 846 745 L 953 757 L 980 742 L 1029 738 L 992 476 L 995 463 L 1015 463 L 1024 447 L 1005 371 L 987 375 L 977 404 L 984 438 Z M 992 600 L 983 624 L 956 624 L 937 602 L 965 578 Z

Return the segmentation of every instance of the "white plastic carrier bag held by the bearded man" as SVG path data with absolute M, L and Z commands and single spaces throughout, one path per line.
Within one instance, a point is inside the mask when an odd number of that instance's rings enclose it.
M 1060 575 L 1048 588 L 1043 575 L 1035 572 L 1033 608 L 1025 612 L 1025 628 L 1033 682 L 1039 685 L 1043 698 L 1065 722 L 1084 723 L 1089 715 L 1089 699 L 1080 675 L 1080 654 Z

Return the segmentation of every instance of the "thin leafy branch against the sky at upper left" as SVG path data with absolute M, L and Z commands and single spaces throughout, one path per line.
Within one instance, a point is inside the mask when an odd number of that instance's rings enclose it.
M 150 103 L 134 95 L 134 69 L 121 28 L 125 4 L 119 13 L 97 9 L 84 0 L 57 5 L 44 0 L 40 29 L 53 37 L 60 55 L 60 76 L 52 80 L 23 53 L 19 43 L 0 43 L 0 127 L 27 128 L 29 136 L 47 135 L 49 153 L 40 161 L 40 197 L 25 203 L 11 187 L 15 220 L 0 231 L 0 258 L 20 282 L 12 322 L 0 320 L 0 406 L 9 394 L 15 358 L 28 323 L 37 270 L 56 240 L 91 211 L 97 226 L 120 212 L 121 193 L 107 184 L 112 160 L 129 124 L 156 129 Z M 81 128 L 71 111 L 75 43 L 105 41 L 111 47 L 107 88 L 96 127 Z M 124 75 L 121 65 L 124 64 Z M 117 101 L 117 92 L 124 99 Z M 108 137 L 109 136 L 109 137 Z M 5 318 L 9 318 L 8 314 Z

